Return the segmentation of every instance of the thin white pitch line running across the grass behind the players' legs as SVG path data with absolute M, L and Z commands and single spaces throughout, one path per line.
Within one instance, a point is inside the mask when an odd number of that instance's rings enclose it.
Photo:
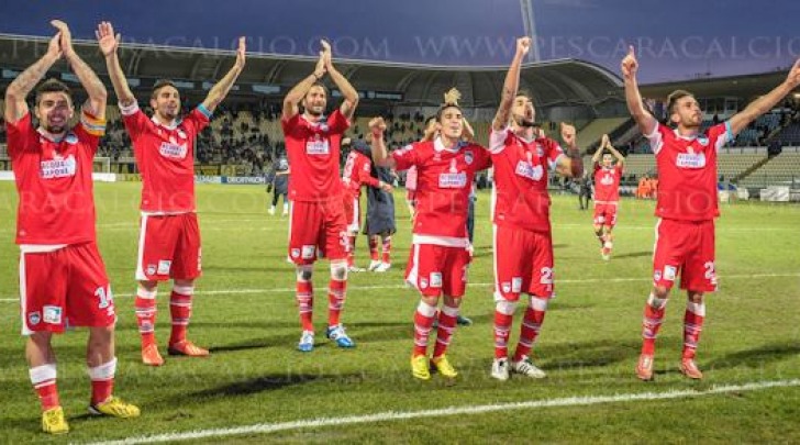
M 791 278 L 800 277 L 800 274 L 753 274 L 753 275 L 725 275 L 722 279 L 741 279 L 741 278 Z M 633 278 L 580 278 L 580 279 L 563 279 L 556 280 L 558 285 L 582 285 L 592 282 L 633 282 L 633 281 L 651 281 L 649 278 L 633 277 Z M 471 287 L 488 287 L 495 286 L 493 282 L 470 282 Z M 405 285 L 378 285 L 378 286 L 347 286 L 347 290 L 377 290 L 377 289 L 411 289 Z M 199 290 L 196 291 L 196 296 L 234 296 L 234 294 L 247 294 L 247 293 L 285 293 L 295 292 L 295 288 L 269 288 L 269 289 L 226 289 L 226 290 Z M 136 297 L 135 293 L 114 293 L 115 298 L 130 298 Z M 0 302 L 10 303 L 20 301 L 19 297 L 15 298 L 0 298 Z

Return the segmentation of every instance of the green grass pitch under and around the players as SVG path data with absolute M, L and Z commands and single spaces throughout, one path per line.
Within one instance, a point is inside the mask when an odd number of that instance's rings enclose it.
M 207 359 L 167 357 L 166 366 L 138 363 L 133 315 L 138 183 L 96 188 L 99 243 L 120 314 L 116 393 L 142 407 L 134 421 L 88 419 L 86 333 L 56 340 L 58 385 L 73 442 L 185 432 L 321 416 L 414 411 L 574 396 L 708 389 L 714 385 L 800 378 L 800 208 L 723 205 L 718 221 L 721 291 L 708 301 L 699 349 L 702 382 L 677 370 L 684 297 L 668 305 L 656 357 L 656 381 L 633 376 L 641 318 L 649 289 L 655 219 L 653 203 L 623 200 L 615 251 L 602 262 L 591 213 L 575 197 L 555 197 L 553 225 L 558 297 L 535 347 L 548 372 L 542 381 L 492 380 L 491 225 L 488 194 L 480 193 L 476 260 L 451 359 L 454 385 L 438 376 L 411 378 L 411 319 L 418 297 L 401 287 L 408 256 L 408 214 L 398 194 L 399 233 L 393 268 L 351 275 L 344 322 L 358 346 L 337 349 L 323 338 L 326 264 L 315 276 L 318 347 L 295 351 L 299 323 L 293 270 L 285 263 L 287 220 L 268 216 L 262 187 L 198 186 L 203 278 L 190 336 L 212 349 Z M 47 441 L 38 432 L 38 403 L 30 387 L 19 336 L 18 249 L 13 245 L 15 193 L 0 183 L 0 442 Z M 366 266 L 364 238 L 358 259 Z M 749 278 L 758 275 L 756 278 Z M 376 287 L 365 289 L 365 287 Z M 213 293 L 203 293 L 213 291 Z M 227 293 L 226 293 L 227 292 Z M 157 336 L 169 332 L 168 288 L 158 299 Z M 514 324 L 518 331 L 519 319 Z M 513 335 L 514 338 L 516 335 Z M 163 352 L 165 347 L 163 347 Z M 430 420 L 286 431 L 225 437 L 225 442 L 797 442 L 800 389 L 785 388 L 696 399 L 591 407 L 526 409 Z M 64 437 L 56 438 L 64 441 Z M 205 440 L 220 442 L 220 440 Z

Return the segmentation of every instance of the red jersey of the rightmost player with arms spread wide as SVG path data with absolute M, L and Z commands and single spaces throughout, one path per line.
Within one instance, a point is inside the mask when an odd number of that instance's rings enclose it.
M 658 168 L 656 215 L 682 221 L 719 216 L 716 152 L 733 140 L 731 124 L 714 125 L 692 137 L 658 124 L 647 138 Z

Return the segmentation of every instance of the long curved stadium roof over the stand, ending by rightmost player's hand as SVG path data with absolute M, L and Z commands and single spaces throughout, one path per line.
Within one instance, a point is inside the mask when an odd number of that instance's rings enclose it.
M 105 64 L 96 42 L 76 41 L 84 59 L 99 74 Z M 23 69 L 46 51 L 46 41 L 38 37 L 0 35 L 2 68 Z M 164 46 L 127 45 L 120 52 L 122 67 L 129 77 L 214 80 L 232 64 L 232 52 L 180 49 Z M 313 57 L 287 55 L 248 56 L 240 77 L 242 84 L 281 87 L 295 85 L 313 70 Z M 466 107 L 493 107 L 508 67 L 453 67 L 389 62 L 335 60 L 338 69 L 359 91 L 402 93 L 403 103 L 441 102 L 442 93 L 452 87 L 462 91 Z M 65 65 L 54 69 L 67 70 Z M 8 80 L 8 79 L 7 79 Z M 521 88 L 532 92 L 537 105 L 588 104 L 608 98 L 620 98 L 621 80 L 605 68 L 587 62 L 560 59 L 526 64 L 521 74 Z

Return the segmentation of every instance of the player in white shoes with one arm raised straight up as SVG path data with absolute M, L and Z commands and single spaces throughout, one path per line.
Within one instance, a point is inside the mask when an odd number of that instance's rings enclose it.
M 554 294 L 548 170 L 573 178 L 584 173 L 575 127 L 562 123 L 562 137 L 568 146 L 565 154 L 557 142 L 541 134 L 534 124 L 536 112 L 531 98 L 518 91 L 520 67 L 530 48 L 530 37 L 516 41 L 516 53 L 505 75 L 489 138 L 495 165 L 496 308 L 491 376 L 498 380 L 508 380 L 511 372 L 529 378 L 545 377 L 530 354 Z M 530 299 L 520 341 L 509 363 L 508 342 L 521 293 Z

